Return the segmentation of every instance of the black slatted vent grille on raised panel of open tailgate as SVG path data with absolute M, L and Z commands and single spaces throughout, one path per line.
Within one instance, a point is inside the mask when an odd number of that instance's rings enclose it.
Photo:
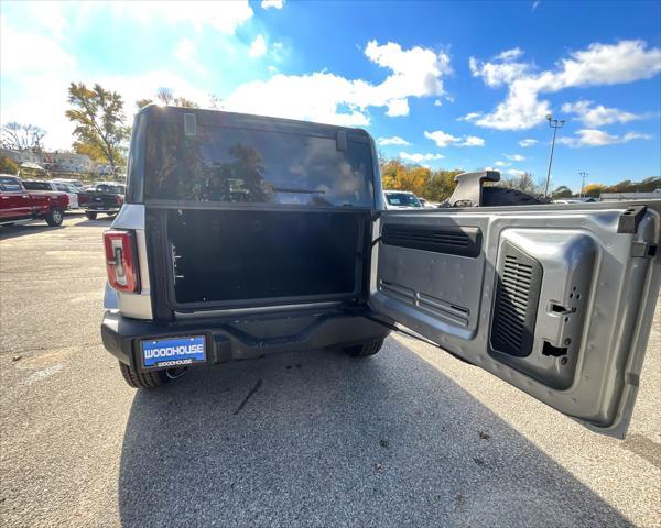
M 542 266 L 508 242 L 502 244 L 501 251 L 491 346 L 506 354 L 527 356 L 534 341 Z

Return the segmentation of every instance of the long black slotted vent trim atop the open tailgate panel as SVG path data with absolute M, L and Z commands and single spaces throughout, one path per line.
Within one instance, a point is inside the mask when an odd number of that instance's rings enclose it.
M 411 248 L 449 255 L 476 257 L 481 252 L 479 228 L 386 223 L 381 230 L 386 245 Z

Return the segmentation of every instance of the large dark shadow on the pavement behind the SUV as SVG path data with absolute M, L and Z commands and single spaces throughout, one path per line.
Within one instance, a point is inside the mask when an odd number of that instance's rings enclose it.
M 394 340 L 364 361 L 285 354 L 138 392 L 119 508 L 127 527 L 629 526 Z

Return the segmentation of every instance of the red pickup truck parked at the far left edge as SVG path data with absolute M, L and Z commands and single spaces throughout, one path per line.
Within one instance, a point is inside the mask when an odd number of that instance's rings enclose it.
M 66 193 L 30 193 L 21 178 L 0 174 L 0 226 L 39 218 L 48 226 L 59 226 L 67 207 Z

